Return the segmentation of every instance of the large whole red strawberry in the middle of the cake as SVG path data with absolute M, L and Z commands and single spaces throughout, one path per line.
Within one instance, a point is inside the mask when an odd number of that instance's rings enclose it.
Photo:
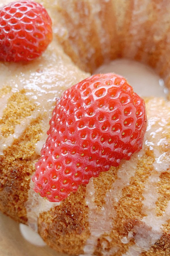
M 142 148 L 145 103 L 126 79 L 89 77 L 65 91 L 53 111 L 33 176 L 34 190 L 59 202 Z

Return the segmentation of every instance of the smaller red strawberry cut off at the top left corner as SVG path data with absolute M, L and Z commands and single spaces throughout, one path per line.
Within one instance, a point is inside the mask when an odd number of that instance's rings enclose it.
M 0 61 L 30 61 L 52 40 L 52 22 L 39 3 L 17 1 L 0 9 Z

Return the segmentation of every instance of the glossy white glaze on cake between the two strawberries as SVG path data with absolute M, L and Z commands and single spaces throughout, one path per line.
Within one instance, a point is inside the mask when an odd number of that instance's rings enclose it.
M 47 138 L 46 131 L 49 129 L 49 120 L 56 98 L 59 98 L 61 93 L 68 87 L 88 76 L 75 67 L 69 57 L 63 53 L 61 48 L 59 48 L 59 46 L 56 47 L 56 44 L 57 43 L 52 42 L 43 57 L 28 63 L 25 66 L 16 63 L 0 63 L 0 71 L 3 70 L 4 74 L 10 73 L 10 75 L 4 76 L 4 81 L 1 82 L 0 88 L 5 84 L 8 84 L 12 87 L 11 93 L 25 89 L 27 97 L 37 106 L 35 110 L 36 113 L 33 113 L 33 117 L 35 114 L 38 115 L 38 113 L 43 115 L 42 139 L 40 139 L 39 142 L 41 145 Z M 68 76 L 65 76 L 65 74 Z M 8 96 L 10 97 L 10 95 L 11 94 Z M 5 101 L 8 99 L 5 98 Z M 2 114 L 3 113 L 1 113 L 1 117 Z M 27 118 L 22 120 L 21 125 L 22 131 L 24 131 L 29 125 Z M 20 130 L 19 126 L 18 128 Z M 15 137 L 13 136 L 13 139 L 14 138 Z M 5 144 L 5 147 L 10 146 L 12 144 L 11 139 L 12 137 L 10 139 L 8 137 L 3 138 L 2 144 Z M 0 147 L 1 154 L 3 153 L 3 148 Z M 39 150 L 40 147 L 37 146 L 36 153 L 40 155 Z

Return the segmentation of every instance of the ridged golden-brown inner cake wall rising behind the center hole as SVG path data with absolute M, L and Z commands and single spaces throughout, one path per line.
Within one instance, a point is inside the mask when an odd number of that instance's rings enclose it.
M 132 0 L 59 1 L 56 36 L 83 70 L 93 73 L 103 62 L 135 59 L 156 68 L 170 87 L 169 7 L 167 0 L 148 0 L 142 7 Z

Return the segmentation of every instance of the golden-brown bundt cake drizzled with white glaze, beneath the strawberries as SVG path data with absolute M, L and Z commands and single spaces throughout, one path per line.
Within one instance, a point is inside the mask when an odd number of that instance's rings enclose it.
M 170 255 L 169 101 L 145 98 L 142 150 L 60 203 L 42 199 L 31 180 L 56 100 L 97 67 L 135 59 L 170 87 L 169 1 L 37 2 L 52 18 L 52 43 L 29 63 L 0 63 L 1 211 L 62 253 Z

